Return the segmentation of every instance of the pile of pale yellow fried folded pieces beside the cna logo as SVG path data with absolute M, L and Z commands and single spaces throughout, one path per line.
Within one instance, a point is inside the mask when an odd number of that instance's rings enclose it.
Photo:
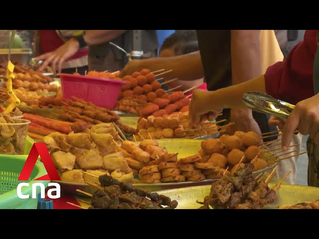
M 116 152 L 120 137 L 110 123 L 94 125 L 84 133 L 50 133 L 43 141 L 62 181 L 84 183 L 83 170 L 92 170 L 90 173 L 97 176 L 108 172 L 120 181 L 133 181 L 127 160 Z

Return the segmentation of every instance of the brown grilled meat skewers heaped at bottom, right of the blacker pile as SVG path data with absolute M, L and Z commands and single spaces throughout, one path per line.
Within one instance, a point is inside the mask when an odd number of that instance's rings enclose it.
M 254 165 L 248 163 L 234 173 L 213 182 L 210 194 L 199 209 L 262 209 L 276 200 L 276 191 L 252 175 Z

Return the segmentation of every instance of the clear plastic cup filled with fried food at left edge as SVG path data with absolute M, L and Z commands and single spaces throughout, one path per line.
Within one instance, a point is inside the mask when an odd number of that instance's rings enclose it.
M 12 119 L 9 114 L 0 114 L 0 154 L 24 154 L 28 125 L 20 124 L 22 121 Z

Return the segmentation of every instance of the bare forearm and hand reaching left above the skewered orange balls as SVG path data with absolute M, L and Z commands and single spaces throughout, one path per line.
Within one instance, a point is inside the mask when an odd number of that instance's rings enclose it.
M 135 71 L 149 69 L 151 72 L 160 69 L 172 70 L 165 74 L 165 78 L 179 78 L 184 81 L 196 80 L 204 77 L 204 70 L 201 63 L 199 51 L 174 56 L 174 57 L 157 57 L 144 60 L 130 61 L 121 71 L 119 77 L 131 75 Z

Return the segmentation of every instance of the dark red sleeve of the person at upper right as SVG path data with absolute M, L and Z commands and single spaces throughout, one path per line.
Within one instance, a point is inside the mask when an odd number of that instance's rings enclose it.
M 295 105 L 314 96 L 313 67 L 316 51 L 317 30 L 306 30 L 304 41 L 296 45 L 284 61 L 267 69 L 267 94 Z

